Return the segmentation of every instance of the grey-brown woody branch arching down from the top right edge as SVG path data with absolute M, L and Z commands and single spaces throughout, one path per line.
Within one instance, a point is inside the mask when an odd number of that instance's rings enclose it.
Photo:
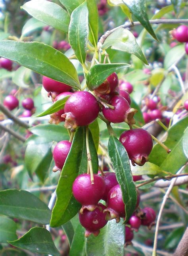
M 162 23 L 167 23 L 167 24 L 188 23 L 188 19 L 152 19 L 150 20 L 150 24 L 162 24 Z M 136 25 L 141 25 L 141 23 L 139 21 L 135 21 L 133 23 L 129 22 L 129 23 L 120 25 L 118 27 L 115 27 L 114 29 L 111 29 L 109 31 L 106 31 L 106 33 L 102 35 L 102 37 L 98 42 L 98 50 L 101 48 L 102 44 L 104 44 L 104 41 L 106 40 L 106 38 L 109 35 L 111 35 L 111 33 L 113 33 L 116 29 L 119 29 L 120 27 L 126 29 L 128 27 L 133 27 Z

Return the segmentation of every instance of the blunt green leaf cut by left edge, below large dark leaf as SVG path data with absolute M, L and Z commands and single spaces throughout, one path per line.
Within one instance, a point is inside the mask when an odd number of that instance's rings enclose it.
M 16 223 L 12 219 L 0 216 L 0 243 L 17 239 L 16 228 Z

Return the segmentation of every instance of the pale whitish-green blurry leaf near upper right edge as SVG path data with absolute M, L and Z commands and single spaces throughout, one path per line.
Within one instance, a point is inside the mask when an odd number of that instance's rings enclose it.
M 178 63 L 178 61 L 184 56 L 185 47 L 184 44 L 178 44 L 171 48 L 164 60 L 165 69 L 169 69 L 171 65 Z

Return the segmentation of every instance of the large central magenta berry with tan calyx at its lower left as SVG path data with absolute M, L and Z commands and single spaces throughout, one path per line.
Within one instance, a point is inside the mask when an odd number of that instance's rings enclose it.
M 99 110 L 99 104 L 90 92 L 74 92 L 65 103 L 65 127 L 88 125 L 98 117 Z

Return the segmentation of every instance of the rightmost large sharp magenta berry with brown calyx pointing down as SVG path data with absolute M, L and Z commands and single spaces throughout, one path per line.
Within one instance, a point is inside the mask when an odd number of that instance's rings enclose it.
M 152 136 L 144 129 L 131 129 L 121 134 L 119 138 L 123 144 L 132 165 L 143 166 L 148 161 L 148 156 L 152 151 Z

